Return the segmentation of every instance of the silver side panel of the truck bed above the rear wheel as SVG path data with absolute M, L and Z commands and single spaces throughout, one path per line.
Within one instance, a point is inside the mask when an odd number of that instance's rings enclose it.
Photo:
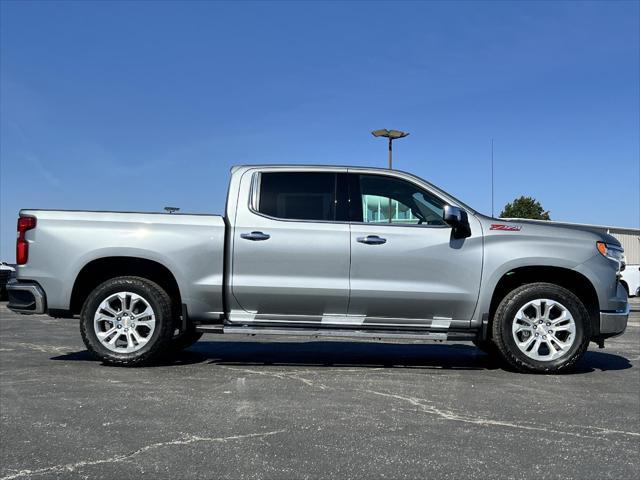
M 135 257 L 173 274 L 190 317 L 222 317 L 224 217 L 68 210 L 20 214 L 36 217 L 37 228 L 27 232 L 29 262 L 17 267 L 17 277 L 46 290 L 48 309 L 70 308 L 74 281 L 92 261 Z

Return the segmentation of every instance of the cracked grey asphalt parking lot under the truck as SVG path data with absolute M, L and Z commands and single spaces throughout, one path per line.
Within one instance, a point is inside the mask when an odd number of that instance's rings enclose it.
M 638 304 L 635 304 L 638 308 Z M 208 335 L 103 366 L 77 321 L 0 305 L 0 480 L 638 478 L 640 313 L 575 373 L 469 343 Z

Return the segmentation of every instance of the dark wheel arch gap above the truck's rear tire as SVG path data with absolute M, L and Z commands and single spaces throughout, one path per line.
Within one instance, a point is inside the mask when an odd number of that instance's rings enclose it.
M 82 267 L 71 290 L 70 313 L 79 313 L 86 298 L 98 285 L 120 276 L 142 277 L 157 283 L 171 298 L 173 308 L 180 311 L 180 287 L 171 270 L 165 265 L 147 258 L 108 256 L 91 260 Z

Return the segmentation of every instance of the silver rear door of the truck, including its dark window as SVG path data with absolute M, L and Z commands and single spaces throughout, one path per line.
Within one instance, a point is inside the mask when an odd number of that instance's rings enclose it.
M 232 233 L 237 310 L 231 305 L 231 321 L 315 324 L 344 317 L 350 256 L 346 170 L 248 174 L 251 192 L 244 198 L 250 201 L 238 202 Z

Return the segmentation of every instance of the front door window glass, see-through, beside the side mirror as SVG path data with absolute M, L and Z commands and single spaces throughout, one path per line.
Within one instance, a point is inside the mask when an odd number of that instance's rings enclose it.
M 359 175 L 362 221 L 445 225 L 444 203 L 412 183 L 384 175 Z

